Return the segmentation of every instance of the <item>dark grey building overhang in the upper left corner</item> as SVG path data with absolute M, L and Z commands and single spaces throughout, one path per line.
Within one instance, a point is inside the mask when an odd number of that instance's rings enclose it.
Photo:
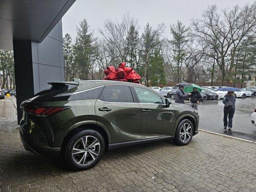
M 12 40 L 42 42 L 75 0 L 0 0 L 0 49 Z

